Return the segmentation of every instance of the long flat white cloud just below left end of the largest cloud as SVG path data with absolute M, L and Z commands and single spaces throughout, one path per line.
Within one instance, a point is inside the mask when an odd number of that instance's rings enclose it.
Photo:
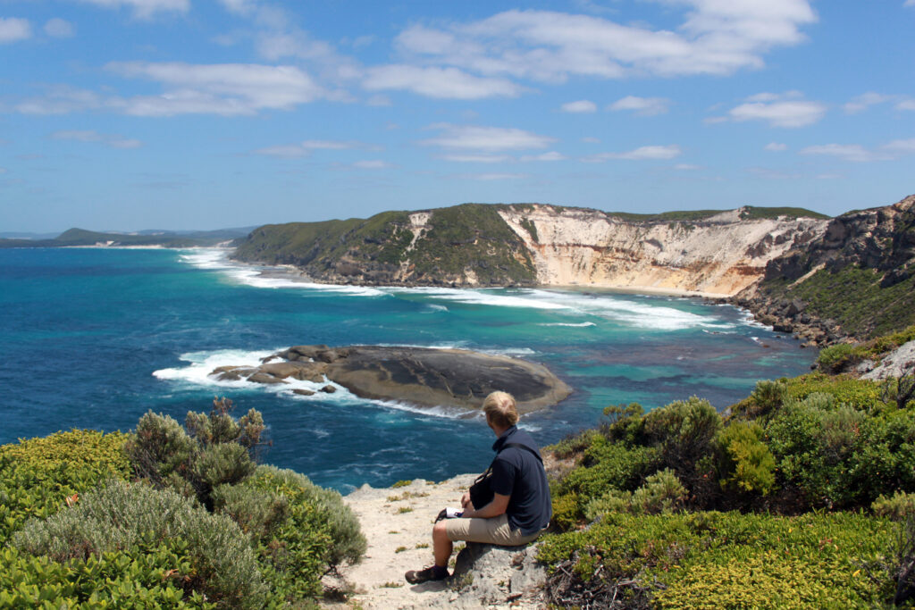
M 405 64 L 369 69 L 362 86 L 368 91 L 412 91 L 447 100 L 513 98 L 524 91 L 511 80 L 473 76 L 457 68 L 422 68 Z

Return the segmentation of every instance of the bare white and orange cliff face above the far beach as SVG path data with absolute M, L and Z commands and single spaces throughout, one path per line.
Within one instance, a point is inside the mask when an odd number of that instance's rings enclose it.
M 740 219 L 739 209 L 678 222 L 632 222 L 544 205 L 502 209 L 500 215 L 531 251 L 540 284 L 715 296 L 754 284 L 767 262 L 819 237 L 828 222 Z

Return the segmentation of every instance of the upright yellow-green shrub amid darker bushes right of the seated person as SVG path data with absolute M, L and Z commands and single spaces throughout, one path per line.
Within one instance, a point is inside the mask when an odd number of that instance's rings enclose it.
M 775 487 L 775 458 L 758 423 L 732 422 L 716 438 L 718 482 L 737 494 L 767 496 Z

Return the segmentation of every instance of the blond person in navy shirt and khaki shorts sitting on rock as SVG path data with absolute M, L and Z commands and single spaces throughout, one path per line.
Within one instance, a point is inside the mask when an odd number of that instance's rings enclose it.
M 521 546 L 536 540 L 553 517 L 540 450 L 531 435 L 515 425 L 518 411 L 514 398 L 507 392 L 494 391 L 483 401 L 483 412 L 486 423 L 498 436 L 492 444 L 496 452 L 490 466 L 492 500 L 475 507 L 470 494 L 465 493 L 458 519 L 437 520 L 432 529 L 435 564 L 407 572 L 404 576 L 408 583 L 447 578 L 448 559 L 456 540 Z

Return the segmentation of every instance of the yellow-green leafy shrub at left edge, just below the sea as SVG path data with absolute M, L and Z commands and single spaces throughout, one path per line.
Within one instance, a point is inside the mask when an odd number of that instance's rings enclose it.
M 73 430 L 0 446 L 0 544 L 108 478 L 126 478 L 129 435 Z

